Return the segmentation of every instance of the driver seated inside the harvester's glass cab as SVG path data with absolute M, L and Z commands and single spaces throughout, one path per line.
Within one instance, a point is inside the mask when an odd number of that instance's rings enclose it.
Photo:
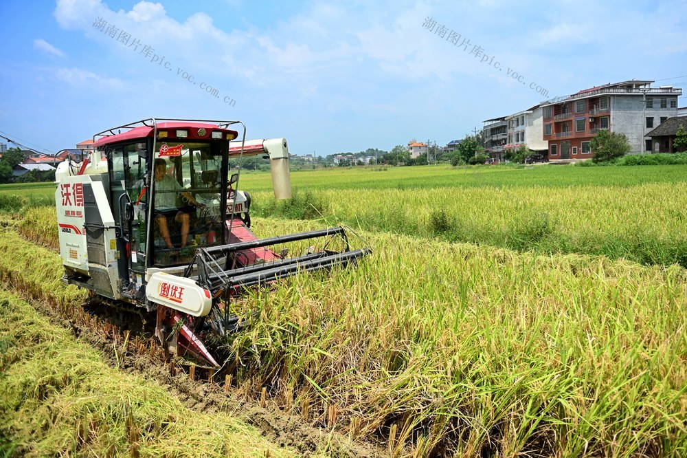
M 170 191 L 177 191 L 172 193 Z M 179 182 L 174 177 L 167 175 L 167 163 L 164 159 L 155 160 L 155 221 L 160 230 L 160 235 L 164 239 L 167 248 L 174 248 L 170 238 L 170 231 L 167 218 L 174 218 L 174 221 L 181 224 L 181 248 L 185 248 L 188 239 L 191 218 L 184 209 L 177 208 L 177 195 L 181 195 L 185 201 L 197 208 L 204 208 L 205 205 L 197 201 L 191 193 L 184 191 Z

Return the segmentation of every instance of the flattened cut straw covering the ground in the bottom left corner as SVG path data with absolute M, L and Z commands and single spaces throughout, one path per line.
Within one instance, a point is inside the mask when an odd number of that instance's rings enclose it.
M 0 349 L 3 456 L 295 456 L 230 415 L 190 411 L 159 384 L 111 369 L 3 290 Z

